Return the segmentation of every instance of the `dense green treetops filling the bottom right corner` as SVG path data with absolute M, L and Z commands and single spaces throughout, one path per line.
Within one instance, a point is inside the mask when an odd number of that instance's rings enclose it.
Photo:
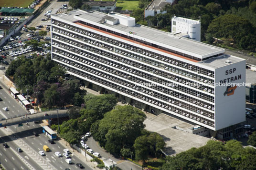
M 256 150 L 243 148 L 237 140 L 226 144 L 210 140 L 198 149 L 167 157 L 161 170 L 255 170 L 255 160 Z

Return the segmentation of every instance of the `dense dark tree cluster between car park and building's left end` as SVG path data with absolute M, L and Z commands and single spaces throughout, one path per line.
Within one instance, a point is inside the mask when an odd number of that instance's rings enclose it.
M 18 90 L 37 98 L 39 104 L 52 108 L 67 104 L 81 106 L 85 90 L 80 89 L 79 80 L 63 80 L 65 70 L 51 60 L 38 56 L 35 59 L 19 57 L 6 70 L 13 77 Z

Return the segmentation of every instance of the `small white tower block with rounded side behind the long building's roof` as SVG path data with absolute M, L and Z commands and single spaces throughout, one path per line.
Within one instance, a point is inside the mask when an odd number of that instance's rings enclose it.
M 171 33 L 180 34 L 186 38 L 201 41 L 201 22 L 182 17 L 171 18 Z M 187 35 L 187 36 L 186 36 Z

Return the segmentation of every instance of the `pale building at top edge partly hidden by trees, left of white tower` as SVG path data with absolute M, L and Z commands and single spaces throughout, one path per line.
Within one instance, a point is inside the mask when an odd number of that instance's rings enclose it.
M 144 10 L 144 17 L 155 16 L 156 14 L 165 14 L 163 10 L 165 5 L 172 4 L 174 0 L 152 0 L 147 8 Z

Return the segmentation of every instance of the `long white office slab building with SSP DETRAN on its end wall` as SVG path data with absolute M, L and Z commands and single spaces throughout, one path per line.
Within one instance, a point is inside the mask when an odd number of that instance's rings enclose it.
M 52 59 L 70 74 L 211 130 L 245 121 L 245 60 L 117 13 L 52 16 Z

